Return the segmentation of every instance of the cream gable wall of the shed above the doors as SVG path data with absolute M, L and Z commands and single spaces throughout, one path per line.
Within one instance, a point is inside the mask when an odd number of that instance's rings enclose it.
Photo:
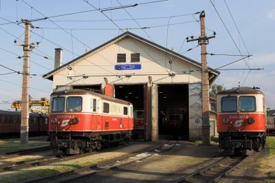
M 118 53 L 126 54 L 126 63 L 117 63 Z M 117 64 L 138 64 L 131 63 L 131 53 L 140 53 L 142 69 L 115 70 L 114 65 Z M 176 74 L 174 77 L 168 76 L 168 72 L 170 72 L 169 60 L 173 61 L 171 70 Z M 72 67 L 72 70 L 69 70 L 69 67 Z M 113 84 L 147 83 L 148 75 L 152 76 L 154 83 L 201 83 L 200 71 L 189 72 L 197 69 L 200 68 L 182 58 L 172 56 L 152 45 L 127 37 L 117 43 L 102 47 L 97 52 L 80 58 L 79 61 L 56 72 L 53 89 L 56 88 L 56 85 L 96 85 L 103 83 L 104 77 Z M 183 74 L 183 72 L 187 74 Z M 82 74 L 91 76 L 88 78 L 74 77 Z M 125 74 L 131 74 L 131 77 L 122 76 Z M 137 74 L 146 74 L 146 76 L 135 76 Z M 163 75 L 155 76 L 154 74 Z M 68 79 L 67 76 L 72 76 L 72 79 Z

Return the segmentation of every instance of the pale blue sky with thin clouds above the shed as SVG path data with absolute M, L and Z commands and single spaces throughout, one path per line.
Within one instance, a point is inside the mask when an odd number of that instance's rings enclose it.
M 12 100 L 21 98 L 22 75 L 16 72 L 23 69 L 23 58 L 18 58 L 23 47 L 14 44 L 14 40 L 23 43 L 21 19 L 39 19 L 32 21 L 31 32 L 31 42 L 39 46 L 30 56 L 30 96 L 39 99 L 50 98 L 52 92 L 52 81 L 42 76 L 54 69 L 54 48 L 63 48 L 63 63 L 67 63 L 126 30 L 201 62 L 200 47 L 196 41 L 187 43 L 186 37 L 199 36 L 199 14 L 195 13 L 202 10 L 207 35 L 217 33 L 207 47 L 208 53 L 216 54 L 208 55 L 209 67 L 252 55 L 223 67 L 246 70 L 221 70 L 215 83 L 226 89 L 260 87 L 267 107 L 275 109 L 275 1 L 153 1 L 157 0 L 0 0 L 0 109 L 10 109 Z M 130 7 L 113 8 L 118 6 Z M 113 10 L 101 12 L 104 8 Z

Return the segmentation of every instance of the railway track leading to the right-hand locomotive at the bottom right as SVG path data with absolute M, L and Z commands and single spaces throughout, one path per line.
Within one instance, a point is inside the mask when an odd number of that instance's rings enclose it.
M 175 183 L 179 182 L 217 182 L 226 173 L 229 173 L 234 167 L 241 163 L 248 155 L 238 158 L 223 157 L 217 162 L 191 173 L 185 177 L 181 177 Z

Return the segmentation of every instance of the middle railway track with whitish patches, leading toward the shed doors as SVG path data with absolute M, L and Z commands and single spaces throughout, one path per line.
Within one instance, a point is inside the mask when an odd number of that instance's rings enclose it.
M 176 143 L 175 143 L 176 144 Z M 142 152 L 136 152 L 135 155 L 129 155 L 124 158 L 119 158 L 112 160 L 109 163 L 105 164 L 94 164 L 91 166 L 83 166 L 79 169 L 76 169 L 74 171 L 66 171 L 63 173 L 58 173 L 55 175 L 50 175 L 46 177 L 41 177 L 35 180 L 29 180 L 22 183 L 34 183 L 34 182 L 68 182 L 68 181 L 77 181 L 78 179 L 89 176 L 89 175 L 95 175 L 96 173 L 100 173 L 102 171 L 108 171 L 111 169 L 118 168 L 118 166 L 122 166 L 125 164 L 130 164 L 131 162 L 135 162 L 138 160 L 142 160 L 148 157 L 151 157 L 152 155 L 155 155 L 157 153 L 163 153 L 164 151 L 169 151 L 173 147 L 175 147 L 175 144 L 162 144 L 159 147 L 155 147 L 153 149 L 148 149 L 148 151 L 142 151 Z

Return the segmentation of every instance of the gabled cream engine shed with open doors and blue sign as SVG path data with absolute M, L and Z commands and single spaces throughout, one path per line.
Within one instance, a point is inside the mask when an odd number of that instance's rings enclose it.
M 115 98 L 133 103 L 137 114 L 143 111 L 144 140 L 201 139 L 201 63 L 131 32 L 64 65 L 61 58 L 56 48 L 55 68 L 43 76 L 54 90 L 69 85 L 102 92 L 111 84 Z M 211 85 L 219 72 L 209 67 L 208 74 Z

